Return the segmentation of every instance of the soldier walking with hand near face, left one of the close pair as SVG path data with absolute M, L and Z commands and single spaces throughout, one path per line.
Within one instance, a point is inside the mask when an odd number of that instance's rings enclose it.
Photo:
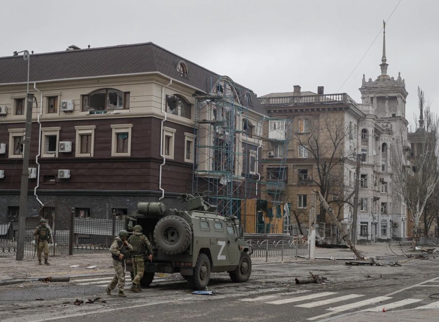
M 120 230 L 119 237 L 116 237 L 113 244 L 111 244 L 110 252 L 113 257 L 113 267 L 116 271 L 113 280 L 107 286 L 107 295 L 111 295 L 111 290 L 118 285 L 120 297 L 125 298 L 126 295 L 123 293 L 123 287 L 125 286 L 125 257 L 130 256 L 130 250 L 133 247 L 128 243 L 128 231 Z

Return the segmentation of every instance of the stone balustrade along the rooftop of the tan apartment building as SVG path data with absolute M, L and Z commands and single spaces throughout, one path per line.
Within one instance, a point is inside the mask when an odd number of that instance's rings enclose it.
M 304 95 L 304 96 L 281 96 L 281 97 L 261 97 L 259 102 L 262 105 L 273 106 L 295 106 L 295 105 L 314 105 L 314 104 L 331 104 L 345 103 L 357 106 L 357 103 L 346 93 L 342 94 L 325 94 L 325 95 Z

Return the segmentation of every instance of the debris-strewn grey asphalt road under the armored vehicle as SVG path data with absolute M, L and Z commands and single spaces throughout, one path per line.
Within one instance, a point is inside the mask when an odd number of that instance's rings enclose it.
M 0 287 L 0 321 L 338 321 L 364 309 L 426 311 L 439 307 L 439 297 L 429 297 L 439 293 L 438 268 L 439 258 L 414 259 L 401 267 L 347 266 L 344 261 L 254 265 L 250 280 L 242 284 L 232 283 L 226 273 L 212 274 L 208 289 L 213 296 L 191 294 L 175 274 L 157 277 L 141 293 L 129 292 L 127 282 L 125 299 L 116 290 L 105 294 L 111 277 L 26 282 Z M 296 277 L 310 271 L 327 277 L 327 283 L 295 284 Z M 94 303 L 73 304 L 97 297 Z

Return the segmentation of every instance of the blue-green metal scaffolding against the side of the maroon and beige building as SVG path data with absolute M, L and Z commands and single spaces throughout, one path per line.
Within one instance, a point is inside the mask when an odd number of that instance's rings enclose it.
M 203 193 L 224 216 L 240 218 L 241 201 L 257 195 L 262 120 L 248 118 L 249 91 L 227 76 L 210 78 L 197 96 L 193 192 Z

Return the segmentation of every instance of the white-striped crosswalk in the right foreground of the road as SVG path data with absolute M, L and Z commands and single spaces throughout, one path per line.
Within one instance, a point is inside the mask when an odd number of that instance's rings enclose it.
M 255 298 L 246 298 L 240 299 L 243 302 L 253 302 L 253 303 L 264 303 L 267 305 L 292 305 L 298 308 L 315 308 L 322 307 L 324 310 L 328 311 L 327 313 L 320 314 L 315 317 L 310 317 L 306 320 L 315 321 L 321 320 L 324 318 L 328 318 L 332 315 L 336 315 L 338 313 L 342 314 L 344 312 L 354 310 L 361 312 L 376 312 L 394 309 L 405 309 L 405 308 L 413 308 L 413 309 L 428 309 L 428 308 L 439 308 L 439 301 L 433 303 L 427 303 L 419 306 L 420 302 L 428 302 L 428 299 L 394 299 L 391 296 L 377 296 L 372 298 L 365 299 L 366 294 L 345 294 L 341 295 L 339 292 L 319 292 L 312 293 L 307 295 L 294 294 L 294 295 L 286 295 L 283 294 L 273 294 L 273 295 L 265 295 L 259 296 Z M 362 299 L 360 299 L 362 298 Z M 339 305 L 331 306 L 330 304 L 338 303 Z M 377 303 L 380 303 L 377 305 Z M 414 304 L 418 304 L 415 306 Z M 375 304 L 375 306 L 374 306 Z M 328 307 L 324 308 L 323 306 L 327 305 Z M 370 306 L 370 307 L 368 307 Z

